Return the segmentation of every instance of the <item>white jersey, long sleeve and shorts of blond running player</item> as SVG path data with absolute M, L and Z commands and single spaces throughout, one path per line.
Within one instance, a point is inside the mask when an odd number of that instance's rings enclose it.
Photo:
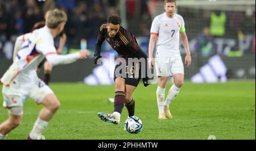
M 37 103 L 42 103 L 53 91 L 38 78 L 36 69 L 44 57 L 54 65 L 70 64 L 80 58 L 80 52 L 72 54 L 56 54 L 50 29 L 45 26 L 32 33 L 19 36 L 15 43 L 15 58 L 10 68 L 3 74 L 4 107 L 22 107 L 24 100 L 31 97 Z M 51 55 L 49 55 L 51 54 Z M 22 112 L 11 112 L 22 115 Z

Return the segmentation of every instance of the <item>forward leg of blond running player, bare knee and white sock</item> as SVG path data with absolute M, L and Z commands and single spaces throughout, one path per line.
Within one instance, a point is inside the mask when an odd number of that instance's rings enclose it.
M 42 104 L 44 107 L 40 111 L 38 119 L 36 120 L 28 139 L 38 139 L 38 137 L 43 133 L 44 129 L 46 129 L 52 116 L 60 107 L 60 102 L 54 94 L 46 95 L 42 101 Z

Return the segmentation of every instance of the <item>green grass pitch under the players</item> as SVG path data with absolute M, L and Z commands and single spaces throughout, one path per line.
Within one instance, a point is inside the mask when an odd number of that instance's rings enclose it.
M 156 85 L 135 90 L 135 115 L 142 119 L 143 130 L 137 135 L 123 131 L 127 110 L 121 123 L 105 123 L 97 112 L 113 112 L 114 86 L 87 86 L 83 83 L 50 83 L 61 107 L 43 135 L 46 139 L 255 139 L 255 81 L 193 84 L 185 82 L 171 103 L 174 119 L 158 120 Z M 171 83 L 167 86 L 169 89 Z M 2 86 L 0 86 L 2 90 Z M 167 91 L 166 91 L 167 94 Z M 2 103 L 2 94 L 0 94 Z M 29 99 L 24 104 L 22 124 L 7 139 L 25 139 L 42 106 Z M 0 123 L 7 110 L 0 108 Z

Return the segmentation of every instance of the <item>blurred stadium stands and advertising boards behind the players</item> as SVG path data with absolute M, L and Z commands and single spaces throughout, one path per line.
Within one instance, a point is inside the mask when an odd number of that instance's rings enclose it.
M 177 5 L 177 13 L 185 20 L 193 60 L 191 68 L 185 68 L 186 80 L 225 82 L 226 79 L 255 79 L 255 1 L 177 0 Z M 81 41 L 86 39 L 92 55 L 86 61 L 56 66 L 53 82 L 84 81 L 93 73 L 97 32 L 109 14 L 122 16 L 122 25 L 137 36 L 147 53 L 152 19 L 164 11 L 161 0 L 0 0 L 1 75 L 11 64 L 15 38 L 29 32 L 34 23 L 44 19 L 47 10 L 55 7 L 68 13 L 65 26 L 67 43 L 63 53 L 78 51 Z M 108 44 L 104 44 L 103 51 L 105 56 L 114 53 Z M 184 55 L 182 45 L 180 51 Z M 220 57 L 217 62 L 220 62 L 210 64 L 209 58 L 216 54 Z M 214 69 L 214 66 L 217 67 Z M 69 72 L 71 70 L 77 74 Z M 85 81 L 94 81 L 90 84 L 108 83 L 89 77 Z

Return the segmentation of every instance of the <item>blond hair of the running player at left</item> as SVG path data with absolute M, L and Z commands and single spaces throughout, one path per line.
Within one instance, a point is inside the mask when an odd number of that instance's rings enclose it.
M 49 10 L 46 12 L 46 26 L 56 28 L 61 23 L 66 23 L 68 20 L 67 14 L 59 9 Z

